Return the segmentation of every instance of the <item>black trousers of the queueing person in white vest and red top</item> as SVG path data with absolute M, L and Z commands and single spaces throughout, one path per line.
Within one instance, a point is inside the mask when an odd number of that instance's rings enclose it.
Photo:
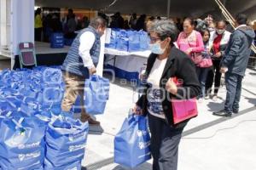
M 221 72 L 220 70 L 220 60 L 212 60 L 212 70 L 208 72 L 207 77 L 207 95 L 212 93 L 212 84 L 214 82 L 214 94 L 218 94 L 218 89 L 220 87 L 220 79 L 221 79 Z

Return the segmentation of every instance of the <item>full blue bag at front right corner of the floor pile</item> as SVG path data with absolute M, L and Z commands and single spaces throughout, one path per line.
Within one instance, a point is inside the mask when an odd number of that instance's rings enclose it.
M 45 135 L 44 169 L 66 169 L 69 165 L 82 161 L 88 132 L 87 122 L 82 123 L 66 116 L 59 116 L 49 123 Z

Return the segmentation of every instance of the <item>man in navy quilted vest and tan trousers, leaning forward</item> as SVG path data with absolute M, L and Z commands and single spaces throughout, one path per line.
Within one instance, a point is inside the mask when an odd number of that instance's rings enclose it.
M 96 73 L 101 51 L 101 37 L 104 34 L 107 23 L 102 17 L 96 17 L 90 21 L 90 26 L 79 31 L 68 51 L 61 70 L 66 84 L 62 111 L 70 111 L 77 97 L 80 95 L 82 122 L 88 121 L 91 125 L 99 125 L 93 120 L 84 108 L 84 81 L 90 75 Z

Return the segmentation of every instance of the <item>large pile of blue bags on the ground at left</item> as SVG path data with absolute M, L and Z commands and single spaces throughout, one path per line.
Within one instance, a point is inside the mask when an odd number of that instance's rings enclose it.
M 88 123 L 61 111 L 59 68 L 0 72 L 0 169 L 80 169 Z

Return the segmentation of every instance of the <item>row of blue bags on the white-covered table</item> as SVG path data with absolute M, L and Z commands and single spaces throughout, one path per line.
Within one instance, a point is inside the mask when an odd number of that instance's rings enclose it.
M 148 50 L 149 41 L 146 31 L 112 29 L 110 42 L 106 43 L 106 48 L 127 52 L 145 51 Z

